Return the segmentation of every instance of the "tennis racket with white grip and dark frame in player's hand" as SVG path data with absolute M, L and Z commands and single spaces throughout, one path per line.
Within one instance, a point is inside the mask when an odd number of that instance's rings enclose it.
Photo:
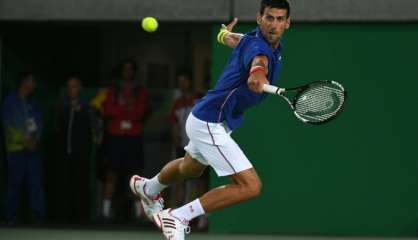
M 334 119 L 344 108 L 347 92 L 335 81 L 316 81 L 295 88 L 264 84 L 264 92 L 281 96 L 304 123 L 320 125 Z

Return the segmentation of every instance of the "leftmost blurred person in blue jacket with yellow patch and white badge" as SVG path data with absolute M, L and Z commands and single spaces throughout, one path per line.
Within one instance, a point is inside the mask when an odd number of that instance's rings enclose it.
M 30 207 L 37 223 L 45 218 L 42 167 L 39 145 L 42 136 L 41 112 L 31 96 L 36 87 L 33 73 L 23 73 L 17 92 L 3 103 L 3 126 L 8 163 L 7 209 L 9 224 L 16 222 L 23 180 L 26 180 Z

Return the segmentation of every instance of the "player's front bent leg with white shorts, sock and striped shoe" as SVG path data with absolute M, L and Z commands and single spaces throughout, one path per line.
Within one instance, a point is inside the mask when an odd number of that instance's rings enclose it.
M 218 176 L 231 176 L 232 183 L 211 190 L 180 208 L 167 209 L 154 215 L 157 225 L 162 226 L 163 234 L 173 239 L 184 239 L 190 220 L 205 212 L 256 197 L 261 190 L 257 173 L 240 147 L 230 137 L 225 124 L 204 122 L 191 115 L 186 130 L 190 137 L 186 151 L 196 162 L 210 165 Z M 172 180 L 175 177 L 173 176 Z

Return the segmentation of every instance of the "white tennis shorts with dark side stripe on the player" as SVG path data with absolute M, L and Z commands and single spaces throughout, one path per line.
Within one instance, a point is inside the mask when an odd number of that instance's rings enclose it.
M 192 158 L 211 166 L 218 176 L 228 176 L 252 168 L 226 123 L 202 121 L 192 113 L 186 121 L 189 144 L 184 147 Z

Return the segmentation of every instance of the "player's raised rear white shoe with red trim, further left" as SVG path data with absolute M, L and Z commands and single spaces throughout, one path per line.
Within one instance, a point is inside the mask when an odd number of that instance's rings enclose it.
M 129 186 L 131 187 L 131 191 L 141 199 L 141 204 L 144 208 L 144 212 L 152 221 L 153 215 L 161 212 L 164 209 L 164 200 L 160 194 L 154 198 L 151 198 L 145 193 L 145 186 L 147 182 L 148 179 L 134 175 L 131 177 Z

